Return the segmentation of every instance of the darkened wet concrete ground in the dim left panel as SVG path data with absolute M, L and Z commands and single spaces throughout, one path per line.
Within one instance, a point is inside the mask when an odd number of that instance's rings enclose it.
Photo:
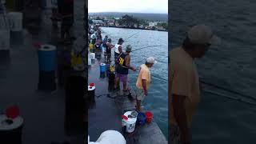
M 81 3 L 75 2 L 75 6 L 79 8 Z M 77 13 L 78 11 L 75 11 L 77 19 L 82 17 L 82 14 Z M 66 133 L 65 122 L 68 114 L 66 114 L 66 94 L 63 87 L 58 87 L 55 91 L 38 90 L 38 54 L 33 43 L 57 46 L 56 40 L 59 37 L 59 30 L 52 30 L 49 17 L 48 13 L 43 14 L 41 30 L 38 34 L 32 35 L 28 30 L 23 30 L 22 42 L 14 42 L 9 52 L 0 51 L 0 112 L 14 104 L 19 106 L 21 116 L 24 118 L 22 143 L 50 144 L 65 141 L 82 143 L 83 134 Z M 73 34 L 76 37 L 82 35 L 81 24 L 74 22 Z M 57 47 L 58 50 L 62 50 L 62 46 Z

